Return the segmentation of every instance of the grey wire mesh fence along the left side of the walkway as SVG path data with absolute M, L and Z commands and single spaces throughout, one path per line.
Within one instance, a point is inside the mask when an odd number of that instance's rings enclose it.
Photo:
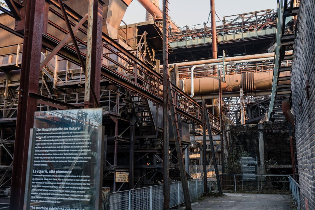
M 203 196 L 203 180 L 188 180 L 188 190 L 192 201 Z M 181 182 L 169 184 L 169 207 L 184 203 Z M 110 194 L 111 210 L 159 210 L 163 209 L 163 185 L 125 190 Z

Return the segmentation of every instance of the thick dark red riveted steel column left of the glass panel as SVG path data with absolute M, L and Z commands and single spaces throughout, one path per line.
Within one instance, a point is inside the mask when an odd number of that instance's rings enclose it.
M 30 129 L 33 127 L 34 112 L 37 110 L 37 99 L 28 97 L 29 93 L 37 94 L 38 75 L 43 25 L 44 0 L 27 0 L 23 54 L 20 75 L 20 94 L 17 110 L 16 132 L 14 142 L 14 159 L 12 170 L 10 210 L 23 209 L 26 182 L 26 168 Z

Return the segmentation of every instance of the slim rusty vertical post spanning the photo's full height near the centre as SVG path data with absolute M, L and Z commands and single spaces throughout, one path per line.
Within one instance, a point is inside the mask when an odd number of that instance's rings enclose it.
M 163 209 L 169 209 L 169 120 L 168 120 L 168 95 L 167 77 L 169 70 L 168 48 L 168 1 L 163 0 Z

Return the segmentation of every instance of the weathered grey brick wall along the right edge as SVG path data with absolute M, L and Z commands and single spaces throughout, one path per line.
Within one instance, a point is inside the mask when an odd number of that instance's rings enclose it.
M 291 74 L 302 209 L 315 209 L 315 2 L 301 1 Z M 306 81 L 310 85 L 307 97 Z M 299 105 L 301 104 L 301 105 Z

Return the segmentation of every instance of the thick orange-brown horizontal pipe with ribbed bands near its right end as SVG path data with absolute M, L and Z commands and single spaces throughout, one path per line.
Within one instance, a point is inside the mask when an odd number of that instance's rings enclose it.
M 243 86 L 245 93 L 254 93 L 256 90 L 270 90 L 272 86 L 273 72 L 246 72 L 243 74 L 227 75 L 226 82 L 222 82 L 222 93 L 237 92 L 240 86 Z M 280 72 L 280 77 L 290 76 L 289 71 Z M 282 84 L 287 81 L 280 81 Z M 206 95 L 219 93 L 219 78 L 218 77 L 201 77 L 195 78 L 193 81 L 194 95 Z M 190 95 L 191 80 L 182 79 L 180 81 L 182 90 Z

